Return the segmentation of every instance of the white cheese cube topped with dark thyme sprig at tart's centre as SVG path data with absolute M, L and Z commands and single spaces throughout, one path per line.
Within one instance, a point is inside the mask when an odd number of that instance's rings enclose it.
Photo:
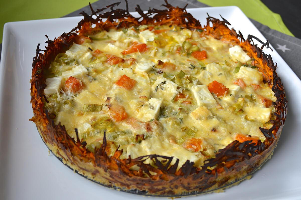
M 174 82 L 159 76 L 152 85 L 153 97 L 170 102 L 178 94 L 177 87 L 178 85 Z

